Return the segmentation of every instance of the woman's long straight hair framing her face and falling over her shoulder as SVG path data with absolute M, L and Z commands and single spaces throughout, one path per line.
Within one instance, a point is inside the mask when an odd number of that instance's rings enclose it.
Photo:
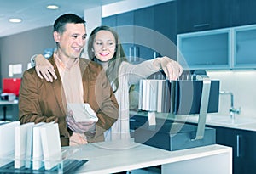
M 120 43 L 119 36 L 116 31 L 113 31 L 109 26 L 98 26 L 91 33 L 88 41 L 88 56 L 89 59 L 96 62 L 96 56 L 93 52 L 93 43 L 95 42 L 95 37 L 97 32 L 99 31 L 110 31 L 115 39 L 116 49 L 113 54 L 113 58 L 108 61 L 108 69 L 106 70 L 106 74 L 108 76 L 108 81 L 110 81 L 113 92 L 116 92 L 119 88 L 119 67 L 123 61 L 127 61 L 125 57 L 124 49 Z

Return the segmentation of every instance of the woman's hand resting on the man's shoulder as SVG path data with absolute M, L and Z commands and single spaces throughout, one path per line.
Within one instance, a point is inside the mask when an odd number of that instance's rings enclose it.
M 53 65 L 51 65 L 49 60 L 45 59 L 42 54 L 38 54 L 35 57 L 35 64 L 37 74 L 41 79 L 43 79 L 43 76 L 46 81 L 50 82 L 53 82 L 53 78 L 57 79 Z

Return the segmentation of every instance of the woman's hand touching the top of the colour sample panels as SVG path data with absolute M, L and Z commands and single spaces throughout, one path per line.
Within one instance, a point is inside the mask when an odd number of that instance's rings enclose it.
M 154 65 L 164 70 L 169 81 L 176 81 L 183 73 L 183 67 L 177 61 L 166 56 L 155 59 Z

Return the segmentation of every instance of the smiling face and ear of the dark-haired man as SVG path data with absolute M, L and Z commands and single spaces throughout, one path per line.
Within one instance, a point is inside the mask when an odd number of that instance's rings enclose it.
M 54 32 L 54 38 L 55 42 L 59 42 L 58 52 L 63 59 L 78 58 L 85 46 L 85 26 L 84 24 L 67 24 L 66 31 L 62 34 Z

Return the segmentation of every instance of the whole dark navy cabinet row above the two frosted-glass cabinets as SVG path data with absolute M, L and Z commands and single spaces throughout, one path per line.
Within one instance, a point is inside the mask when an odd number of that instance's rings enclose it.
M 255 0 L 177 0 L 177 33 L 256 24 Z

